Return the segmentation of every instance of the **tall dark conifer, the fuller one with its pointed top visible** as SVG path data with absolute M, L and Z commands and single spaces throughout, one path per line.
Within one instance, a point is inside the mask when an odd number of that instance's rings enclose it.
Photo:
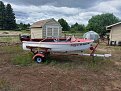
M 5 28 L 8 30 L 16 29 L 15 14 L 10 4 L 7 4 L 5 14 L 6 14 L 6 27 Z

